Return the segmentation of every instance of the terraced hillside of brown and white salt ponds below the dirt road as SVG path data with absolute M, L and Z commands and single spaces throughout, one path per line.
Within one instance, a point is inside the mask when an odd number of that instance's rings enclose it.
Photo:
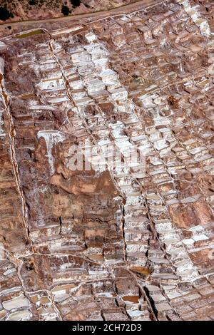
M 214 1 L 144 2 L 1 29 L 3 321 L 214 319 Z

